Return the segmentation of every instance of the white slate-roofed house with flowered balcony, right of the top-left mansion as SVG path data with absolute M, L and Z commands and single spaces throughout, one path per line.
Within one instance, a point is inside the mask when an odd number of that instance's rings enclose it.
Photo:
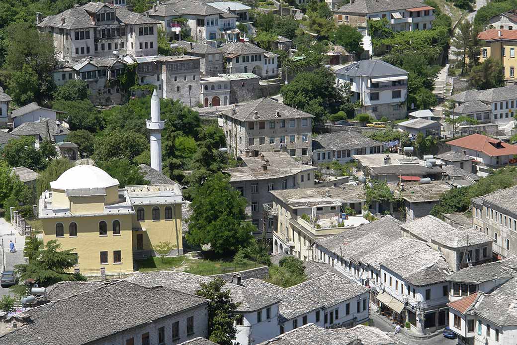
M 246 15 L 241 11 L 236 15 L 236 11 L 227 10 L 227 6 L 221 10 L 219 4 L 212 6 L 196 0 L 172 0 L 153 6 L 146 13 L 159 20 L 166 35 L 172 39 L 181 40 L 181 28 L 187 28 L 194 41 L 218 47 L 225 42 L 237 41 L 240 31 L 235 25 L 239 18 L 248 18 L 247 10 Z

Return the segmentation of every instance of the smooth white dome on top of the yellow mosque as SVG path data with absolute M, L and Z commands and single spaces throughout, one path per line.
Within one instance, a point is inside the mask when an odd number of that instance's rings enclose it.
M 108 188 L 114 185 L 118 185 L 118 180 L 108 172 L 85 164 L 66 170 L 57 180 L 50 182 L 52 189 L 59 190 Z

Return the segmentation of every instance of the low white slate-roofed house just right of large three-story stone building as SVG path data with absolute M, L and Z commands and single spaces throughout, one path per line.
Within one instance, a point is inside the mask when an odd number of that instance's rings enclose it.
M 346 163 L 353 155 L 382 153 L 382 142 L 372 140 L 354 131 L 320 134 L 312 139 L 313 164 L 338 161 Z

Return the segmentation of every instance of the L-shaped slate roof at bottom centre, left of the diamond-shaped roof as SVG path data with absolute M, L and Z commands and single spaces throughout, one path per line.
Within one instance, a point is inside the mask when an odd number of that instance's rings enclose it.
M 315 300 L 260 279 L 246 279 L 242 281 L 242 285 L 258 293 L 280 300 L 278 323 L 285 323 L 311 311 L 323 308 L 323 305 Z

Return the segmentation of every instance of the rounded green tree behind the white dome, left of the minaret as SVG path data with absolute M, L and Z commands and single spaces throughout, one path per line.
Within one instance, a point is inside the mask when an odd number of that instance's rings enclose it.
M 123 159 L 132 162 L 133 159 L 147 150 L 147 138 L 140 133 L 122 131 L 104 131 L 94 141 L 95 161 L 110 161 Z

